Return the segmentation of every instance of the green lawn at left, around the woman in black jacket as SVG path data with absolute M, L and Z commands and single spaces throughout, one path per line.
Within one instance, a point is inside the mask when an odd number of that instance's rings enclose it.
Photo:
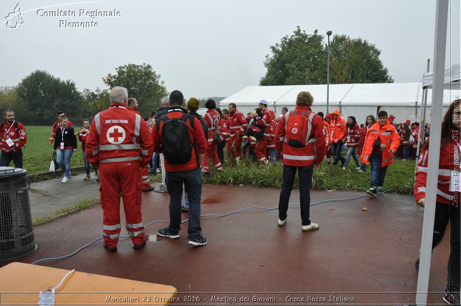
M 51 135 L 51 126 L 25 126 L 27 143 L 23 148 L 23 163 L 27 174 L 35 174 L 47 172 L 50 167 L 51 158 L 53 156 L 53 145 L 50 146 L 48 139 Z M 77 133 L 80 126 L 77 126 Z M 72 154 L 71 167 L 84 166 L 82 150 L 80 149 L 80 141 L 78 141 L 77 152 Z M 14 167 L 13 162 L 10 166 Z

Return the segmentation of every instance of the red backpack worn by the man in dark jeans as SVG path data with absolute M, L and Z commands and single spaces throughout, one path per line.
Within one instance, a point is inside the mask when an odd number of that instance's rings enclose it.
M 310 130 L 308 131 L 309 119 L 305 115 L 310 113 L 312 112 L 291 111 L 287 113 L 288 118 L 285 117 L 285 137 L 290 146 L 304 147 L 307 145 Z

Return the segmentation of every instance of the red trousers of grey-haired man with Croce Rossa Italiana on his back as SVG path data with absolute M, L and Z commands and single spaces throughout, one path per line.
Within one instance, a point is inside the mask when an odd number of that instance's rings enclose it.
M 104 212 L 102 235 L 107 247 L 116 247 L 120 235 L 120 194 L 126 230 L 133 244 L 145 241 L 141 216 L 140 167 L 139 161 L 131 161 L 126 165 L 99 164 L 100 201 Z

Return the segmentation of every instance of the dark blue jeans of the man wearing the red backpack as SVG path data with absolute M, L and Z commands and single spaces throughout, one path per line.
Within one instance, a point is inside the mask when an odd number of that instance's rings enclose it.
M 285 220 L 287 218 L 288 202 L 290 201 L 291 190 L 295 183 L 296 170 L 299 177 L 299 202 L 301 206 L 301 224 L 311 224 L 309 209 L 311 204 L 311 183 L 313 165 L 308 166 L 289 166 L 284 165 L 283 184 L 278 200 L 278 218 Z

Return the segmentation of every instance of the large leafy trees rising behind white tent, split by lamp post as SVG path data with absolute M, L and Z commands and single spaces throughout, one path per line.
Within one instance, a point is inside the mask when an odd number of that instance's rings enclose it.
M 312 35 L 298 26 L 293 35 L 284 36 L 271 46 L 272 56 L 266 55 L 266 75 L 261 86 L 325 84 L 327 44 L 315 30 Z M 330 42 L 330 82 L 376 83 L 394 82 L 379 59 L 381 53 L 361 38 L 335 35 Z

